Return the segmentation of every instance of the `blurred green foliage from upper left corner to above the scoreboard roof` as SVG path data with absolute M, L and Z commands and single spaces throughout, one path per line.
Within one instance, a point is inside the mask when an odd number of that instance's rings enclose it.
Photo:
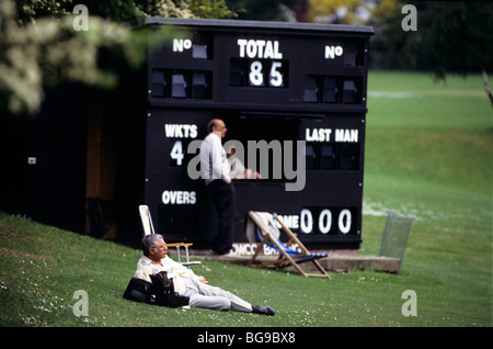
M 74 30 L 77 4 L 89 9 L 89 30 Z M 129 67 L 145 47 L 169 35 L 133 31 L 146 16 L 231 18 L 225 0 L 12 0 L 0 1 L 0 113 L 34 114 L 43 87 L 61 81 L 113 88 L 118 72 L 102 65 L 112 53 Z

